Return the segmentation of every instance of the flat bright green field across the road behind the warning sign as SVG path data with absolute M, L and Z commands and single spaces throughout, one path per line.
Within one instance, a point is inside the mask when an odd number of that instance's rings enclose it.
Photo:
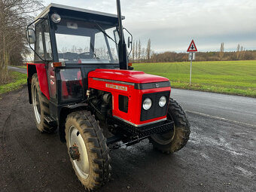
M 256 61 L 134 63 L 137 71 L 169 78 L 172 87 L 256 97 Z

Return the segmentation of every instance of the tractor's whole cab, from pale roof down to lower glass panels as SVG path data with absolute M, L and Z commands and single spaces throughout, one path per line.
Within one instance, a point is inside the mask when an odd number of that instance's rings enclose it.
M 27 35 L 34 38 L 35 47 L 29 46 L 37 65 L 29 65 L 28 70 L 33 74 L 44 66 L 47 77 L 39 81 L 42 87 L 49 86 L 43 93 L 51 101 L 50 108 L 84 100 L 88 72 L 120 67 L 117 15 L 50 4 L 32 24 Z

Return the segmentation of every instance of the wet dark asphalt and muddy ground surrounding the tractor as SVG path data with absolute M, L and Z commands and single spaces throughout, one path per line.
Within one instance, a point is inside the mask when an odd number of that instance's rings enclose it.
M 255 191 L 256 99 L 175 89 L 172 96 L 190 120 L 185 148 L 165 155 L 144 141 L 111 151 L 111 181 L 99 191 Z M 0 186 L 84 191 L 66 145 L 38 133 L 26 87 L 0 100 Z

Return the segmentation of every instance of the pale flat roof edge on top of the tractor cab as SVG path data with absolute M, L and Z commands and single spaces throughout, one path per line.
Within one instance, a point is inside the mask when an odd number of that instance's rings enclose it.
M 53 10 L 77 11 L 77 12 L 80 12 L 80 14 L 83 14 L 83 13 L 84 14 L 93 14 L 93 15 L 96 15 L 96 16 L 111 17 L 111 19 L 117 19 L 116 14 L 108 14 L 108 13 L 99 12 L 99 11 L 92 11 L 92 10 L 83 9 L 83 8 L 75 8 L 75 7 L 72 7 L 72 6 L 59 5 L 59 4 L 51 3 L 50 5 L 47 6 L 47 8 L 44 9 L 44 11 L 41 12 L 41 14 L 38 15 L 38 17 L 35 18 L 35 20 L 38 20 L 38 18 L 40 18 L 40 17 L 44 17 L 50 11 L 53 11 Z M 124 20 L 125 17 L 122 16 L 122 19 Z

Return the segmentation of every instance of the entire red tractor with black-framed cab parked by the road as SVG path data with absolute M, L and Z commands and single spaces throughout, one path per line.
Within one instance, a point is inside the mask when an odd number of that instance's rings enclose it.
M 50 4 L 26 30 L 36 126 L 59 133 L 87 190 L 108 181 L 111 149 L 149 139 L 169 154 L 190 135 L 184 110 L 169 99 L 169 79 L 128 65 L 132 36 L 126 46 L 123 19 L 119 0 L 117 15 Z

